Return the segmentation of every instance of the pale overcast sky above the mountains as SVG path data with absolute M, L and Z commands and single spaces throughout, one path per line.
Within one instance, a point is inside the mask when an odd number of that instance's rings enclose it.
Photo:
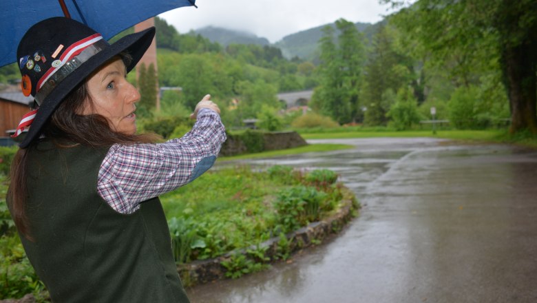
M 242 30 L 274 43 L 288 34 L 344 18 L 376 23 L 388 14 L 379 0 L 196 0 L 198 8 L 160 14 L 181 33 L 208 25 Z

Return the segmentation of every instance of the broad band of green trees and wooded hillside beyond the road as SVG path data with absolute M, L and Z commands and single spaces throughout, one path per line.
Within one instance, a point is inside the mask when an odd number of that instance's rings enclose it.
M 180 34 L 156 18 L 158 81 L 180 90 L 162 94 L 160 112 L 140 104 L 139 116 L 187 116 L 209 93 L 230 128 L 257 118 L 271 130 L 336 123 L 412 129 L 436 118 L 458 129 L 512 121 L 513 132 L 537 132 L 537 8 L 529 0 L 474 2 L 419 0 L 375 25 L 339 19 L 282 41 L 313 50 L 309 60 L 288 59 L 288 50 L 273 45 Z M 18 79 L 14 72 L 3 67 L 0 80 Z M 314 90 L 306 116 L 277 100 L 278 92 L 298 90 Z

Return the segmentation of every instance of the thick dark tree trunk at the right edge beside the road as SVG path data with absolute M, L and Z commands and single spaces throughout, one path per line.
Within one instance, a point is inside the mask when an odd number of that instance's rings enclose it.
M 537 75 L 535 43 L 503 49 L 503 72 L 511 108 L 509 132 L 529 130 L 537 134 Z

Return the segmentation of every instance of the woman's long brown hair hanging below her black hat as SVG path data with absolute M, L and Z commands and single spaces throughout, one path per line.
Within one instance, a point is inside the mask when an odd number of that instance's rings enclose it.
M 125 57 L 123 57 L 125 60 Z M 99 114 L 83 115 L 83 109 L 92 107 L 87 82 L 78 85 L 63 99 L 59 107 L 52 113 L 48 123 L 43 126 L 43 136 L 52 140 L 58 148 L 69 148 L 75 145 L 89 147 L 110 147 L 116 143 L 132 145 L 136 143 L 155 143 L 159 140 L 156 134 L 123 134 L 116 132 L 109 121 Z M 23 236 L 30 236 L 30 222 L 25 212 L 25 199 L 28 193 L 28 153 L 39 143 L 34 140 L 25 149 L 19 149 L 15 154 L 10 170 L 10 187 L 8 204 L 12 218 Z

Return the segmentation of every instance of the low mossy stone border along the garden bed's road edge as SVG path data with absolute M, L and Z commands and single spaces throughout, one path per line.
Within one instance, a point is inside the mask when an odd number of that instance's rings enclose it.
M 289 241 L 289 253 L 294 253 L 304 247 L 309 247 L 313 244 L 313 240 L 324 240 L 331 233 L 339 232 L 347 222 L 353 217 L 352 200 L 341 200 L 339 210 L 326 220 L 313 222 L 306 227 L 302 227 L 297 231 L 293 231 L 286 235 Z M 277 243 L 280 237 L 274 237 L 266 240 L 260 247 L 268 247 L 266 257 L 275 260 L 277 254 Z M 251 247 L 255 249 L 255 246 Z M 204 284 L 214 280 L 226 278 L 227 269 L 221 264 L 222 261 L 229 260 L 231 255 L 235 253 L 246 254 L 246 249 L 233 251 L 220 257 L 208 260 L 196 260 L 187 264 L 178 265 L 183 286 L 194 286 L 196 284 Z

